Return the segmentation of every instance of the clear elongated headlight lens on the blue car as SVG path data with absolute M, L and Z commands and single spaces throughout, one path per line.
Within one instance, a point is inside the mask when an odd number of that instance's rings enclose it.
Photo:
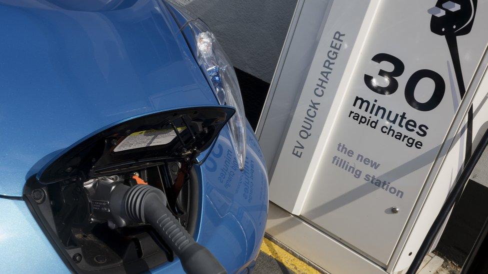
M 212 84 L 218 102 L 235 108 L 235 114 L 228 121 L 228 125 L 237 163 L 242 170 L 245 162 L 245 114 L 234 68 L 206 25 L 198 19 L 189 24 L 195 35 L 197 59 Z

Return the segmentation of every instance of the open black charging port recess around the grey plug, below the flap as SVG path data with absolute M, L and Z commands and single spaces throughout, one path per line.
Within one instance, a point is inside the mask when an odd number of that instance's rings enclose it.
M 187 165 L 167 161 L 85 182 L 67 180 L 42 185 L 32 179 L 25 187 L 25 197 L 39 224 L 75 272 L 142 272 L 172 261 L 173 252 L 148 224 L 117 228 L 111 222 L 97 219 L 103 212 L 109 213 L 108 202 L 94 200 L 90 193 L 103 182 L 130 187 L 138 183 L 135 179 L 138 178 L 166 195 L 167 208 L 192 235 L 197 221 L 198 180 L 194 170 L 185 169 Z M 176 184 L 180 184 L 178 191 Z

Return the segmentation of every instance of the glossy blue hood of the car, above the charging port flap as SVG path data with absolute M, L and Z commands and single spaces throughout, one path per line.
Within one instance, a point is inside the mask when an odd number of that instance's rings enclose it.
M 159 1 L 53 2 L 0 0 L 0 195 L 21 196 L 27 178 L 101 128 L 216 104 Z

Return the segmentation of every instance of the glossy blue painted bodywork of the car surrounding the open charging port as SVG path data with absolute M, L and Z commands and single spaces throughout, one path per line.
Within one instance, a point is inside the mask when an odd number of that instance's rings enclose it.
M 76 3 L 50 1 L 56 2 Z M 86 10 L 103 9 L 96 5 L 103 0 L 91 2 Z M 26 179 L 47 162 L 110 125 L 217 104 L 165 5 L 128 2 L 87 12 L 48 1 L 0 0 L 0 195 L 20 197 Z M 246 153 L 240 171 L 224 127 L 195 166 L 195 238 L 229 273 L 252 267 L 267 215 L 268 180 L 249 125 Z M 69 272 L 24 201 L 0 198 L 0 208 L 0 273 Z M 176 259 L 150 272 L 183 270 Z

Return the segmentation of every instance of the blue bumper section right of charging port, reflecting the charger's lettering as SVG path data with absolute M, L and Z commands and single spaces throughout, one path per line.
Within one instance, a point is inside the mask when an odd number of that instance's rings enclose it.
M 236 250 L 236 254 L 225 254 L 224 258 L 219 258 L 219 255 L 214 253 L 224 267 L 227 267 L 226 262 L 229 261 L 234 261 L 235 265 L 242 265 L 254 259 L 263 237 L 255 235 L 255 232 L 263 231 L 267 213 L 267 178 L 264 163 L 258 157 L 262 154 L 255 137 L 247 134 L 245 168 L 240 171 L 231 153 L 230 141 L 225 136 L 227 134 L 227 130 L 222 130 L 212 152 L 202 165 L 206 171 L 206 210 L 203 214 L 215 215 L 218 217 L 215 220 L 219 220 L 218 223 L 214 221 L 206 224 L 203 215 L 202 226 L 210 225 L 213 229 L 205 229 L 206 232 L 225 237 L 212 238 L 212 235 L 205 232 L 200 235 L 202 241 L 209 239 L 212 242 L 209 246 L 222 245 L 223 248 L 227 244 L 240 243 L 241 249 Z M 229 155 L 228 152 L 232 155 L 230 159 L 226 156 Z M 229 273 L 232 272 L 227 270 Z

